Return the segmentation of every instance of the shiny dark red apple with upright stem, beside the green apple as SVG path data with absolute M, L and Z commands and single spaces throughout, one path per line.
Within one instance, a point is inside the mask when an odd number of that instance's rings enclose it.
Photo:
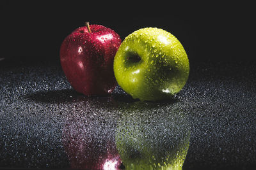
M 106 96 L 116 87 L 113 60 L 120 36 L 102 25 L 79 27 L 64 39 L 61 67 L 72 87 L 86 96 Z

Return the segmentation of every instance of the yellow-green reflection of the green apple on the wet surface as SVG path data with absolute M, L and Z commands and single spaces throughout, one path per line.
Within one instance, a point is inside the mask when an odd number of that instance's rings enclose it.
M 129 107 L 115 136 L 125 169 L 182 169 L 190 138 L 186 114 L 170 104 L 138 102 Z

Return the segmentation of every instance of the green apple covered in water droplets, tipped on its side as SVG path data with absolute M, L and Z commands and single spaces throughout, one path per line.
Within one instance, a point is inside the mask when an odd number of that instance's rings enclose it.
M 134 99 L 170 99 L 186 84 L 188 56 L 175 36 L 158 28 L 129 34 L 116 52 L 115 78 Z

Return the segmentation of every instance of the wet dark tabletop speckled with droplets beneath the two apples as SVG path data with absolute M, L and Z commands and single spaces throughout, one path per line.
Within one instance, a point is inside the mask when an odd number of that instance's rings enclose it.
M 150 103 L 134 101 L 120 87 L 109 97 L 78 94 L 58 62 L 1 60 L 0 167 L 124 169 L 125 154 L 127 162 L 166 158 L 164 151 L 189 136 L 183 169 L 255 169 L 254 66 L 191 64 L 188 83 L 172 101 Z

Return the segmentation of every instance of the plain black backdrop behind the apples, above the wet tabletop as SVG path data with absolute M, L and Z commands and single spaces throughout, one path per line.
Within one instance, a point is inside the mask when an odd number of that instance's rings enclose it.
M 0 58 L 58 60 L 63 39 L 85 21 L 122 40 L 143 27 L 176 36 L 190 62 L 254 60 L 253 5 L 173 1 L 1 1 Z

